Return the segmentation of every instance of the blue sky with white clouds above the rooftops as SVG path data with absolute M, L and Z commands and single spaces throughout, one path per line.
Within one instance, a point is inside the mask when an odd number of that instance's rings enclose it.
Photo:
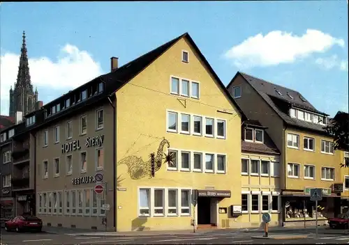
M 225 85 L 240 70 L 298 90 L 332 116 L 348 111 L 345 0 L 43 2 L 0 8 L 1 114 L 8 113 L 24 30 L 31 78 L 44 103 L 108 72 L 111 56 L 123 65 L 188 32 Z

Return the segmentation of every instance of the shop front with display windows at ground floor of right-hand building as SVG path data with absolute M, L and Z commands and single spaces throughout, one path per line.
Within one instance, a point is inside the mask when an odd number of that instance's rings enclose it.
M 282 191 L 281 205 L 283 226 L 315 226 L 316 212 L 318 224 L 325 225 L 328 218 L 336 217 L 341 213 L 341 198 L 331 189 L 322 189 L 322 200 L 310 200 L 310 188 L 304 191 Z

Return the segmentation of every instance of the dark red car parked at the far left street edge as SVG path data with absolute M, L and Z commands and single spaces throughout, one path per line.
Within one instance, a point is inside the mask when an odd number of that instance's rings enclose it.
M 36 216 L 16 216 L 5 222 L 5 230 L 16 230 L 22 232 L 26 230 L 36 230 L 38 232 L 43 228 L 43 221 Z

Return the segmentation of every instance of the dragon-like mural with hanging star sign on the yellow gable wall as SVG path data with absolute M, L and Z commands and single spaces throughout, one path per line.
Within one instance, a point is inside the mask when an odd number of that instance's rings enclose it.
M 160 142 L 156 155 L 152 152 L 149 155 L 148 161 L 144 161 L 142 157 L 131 155 L 121 159 L 118 162 L 118 165 L 125 164 L 128 167 L 127 173 L 133 180 L 139 180 L 146 176 L 154 177 L 156 171 L 161 168 L 163 163 L 168 163 L 170 166 L 174 165 L 173 155 L 171 153 L 165 154 L 165 152 L 163 152 L 165 145 L 167 148 L 170 148 L 170 142 L 167 139 L 163 139 Z

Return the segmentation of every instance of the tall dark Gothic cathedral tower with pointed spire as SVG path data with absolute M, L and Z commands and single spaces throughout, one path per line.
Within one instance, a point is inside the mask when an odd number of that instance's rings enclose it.
M 15 82 L 13 89 L 12 86 L 10 88 L 10 116 L 14 117 L 16 111 L 22 111 L 23 116 L 31 113 L 36 109 L 36 102 L 38 102 L 38 91 L 35 90 L 34 92 L 33 85 L 31 85 L 27 46 L 25 43 L 25 33 L 23 31 L 17 82 Z

